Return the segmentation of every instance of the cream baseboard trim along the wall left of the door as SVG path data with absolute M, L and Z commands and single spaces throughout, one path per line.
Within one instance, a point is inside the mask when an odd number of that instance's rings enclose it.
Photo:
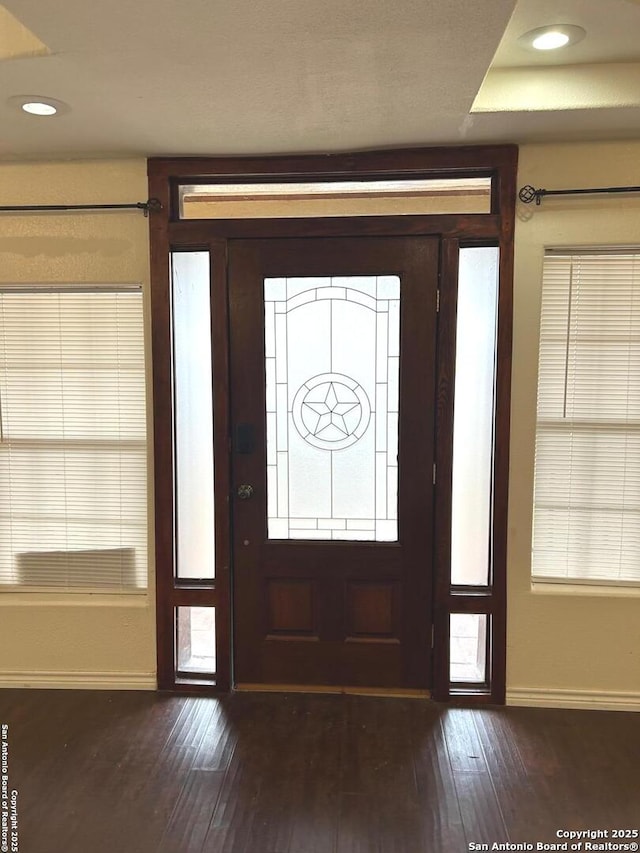
M 1 672 L 0 688 L 54 690 L 156 690 L 155 672 Z

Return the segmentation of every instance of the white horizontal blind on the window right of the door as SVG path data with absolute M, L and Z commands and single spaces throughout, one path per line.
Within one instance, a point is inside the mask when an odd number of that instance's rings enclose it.
M 640 582 L 640 255 L 545 257 L 534 579 Z

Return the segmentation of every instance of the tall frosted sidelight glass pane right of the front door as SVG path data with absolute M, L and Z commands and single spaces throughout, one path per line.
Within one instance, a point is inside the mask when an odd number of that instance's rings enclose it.
M 460 250 L 451 582 L 489 583 L 498 249 Z

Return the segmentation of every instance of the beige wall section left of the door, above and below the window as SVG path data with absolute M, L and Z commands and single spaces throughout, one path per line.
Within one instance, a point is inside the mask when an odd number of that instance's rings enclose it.
M 0 205 L 121 203 L 147 195 L 144 160 L 0 166 Z M 149 244 L 141 212 L 0 216 L 0 281 L 142 282 L 148 329 Z M 0 685 L 153 688 L 153 571 L 149 590 L 0 592 Z

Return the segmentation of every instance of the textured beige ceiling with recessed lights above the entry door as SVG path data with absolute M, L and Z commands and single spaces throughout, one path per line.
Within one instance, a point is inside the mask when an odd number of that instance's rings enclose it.
M 0 55 L 4 159 L 640 134 L 635 100 L 610 97 L 618 84 L 607 76 L 611 63 L 625 63 L 631 78 L 625 76 L 624 86 L 640 92 L 633 76 L 640 6 L 632 0 L 520 0 L 512 19 L 515 0 L 5 0 L 5 6 L 50 53 Z M 567 109 L 553 99 L 554 86 L 566 84 L 554 78 L 547 86 L 542 75 L 533 81 L 551 58 L 513 42 L 524 29 L 547 23 L 588 29 L 562 63 L 588 67 L 592 75 L 601 65 L 606 97 Z M 516 73 L 527 75 L 524 89 Z M 480 111 L 472 113 L 485 77 Z M 580 77 L 575 86 L 588 92 L 592 83 Z M 53 119 L 28 116 L 8 102 L 17 95 L 48 96 L 71 109 Z

